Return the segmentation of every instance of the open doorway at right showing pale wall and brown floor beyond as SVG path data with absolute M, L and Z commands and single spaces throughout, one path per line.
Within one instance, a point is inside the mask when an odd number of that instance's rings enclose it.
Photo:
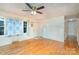
M 70 19 L 67 21 L 66 25 L 66 39 L 65 47 L 67 48 L 77 48 L 77 20 Z

